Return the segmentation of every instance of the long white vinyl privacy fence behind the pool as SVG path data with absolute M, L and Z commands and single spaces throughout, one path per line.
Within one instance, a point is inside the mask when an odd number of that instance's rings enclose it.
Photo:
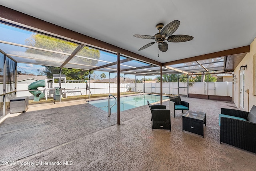
M 17 97 L 29 96 L 29 99 L 33 99 L 34 95 L 28 91 L 29 84 L 17 84 Z M 54 84 L 53 87 L 58 86 Z M 62 83 L 62 92 L 65 92 L 67 96 L 74 95 L 86 95 L 89 93 L 86 90 L 86 83 Z M 188 87 L 187 83 L 179 83 L 179 87 Z M 117 84 L 111 83 L 90 83 L 90 92 L 93 94 L 108 94 L 117 92 Z M 187 88 L 179 88 L 180 95 L 187 95 L 188 93 L 194 94 L 207 94 L 207 82 L 195 82 L 194 85 Z M 38 87 L 43 93 L 47 93 L 48 97 L 53 97 L 52 91 L 45 91 L 45 87 Z M 144 93 L 160 93 L 160 83 L 128 83 L 120 84 L 120 92 L 134 91 L 134 92 L 144 92 Z M 178 83 L 163 83 L 163 94 L 178 95 Z M 209 82 L 209 95 L 223 95 L 232 97 L 232 82 Z

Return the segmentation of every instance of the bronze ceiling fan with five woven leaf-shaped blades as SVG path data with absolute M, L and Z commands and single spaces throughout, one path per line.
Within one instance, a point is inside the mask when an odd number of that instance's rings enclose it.
M 182 35 L 182 34 L 172 35 L 178 29 L 179 26 L 180 26 L 180 21 L 178 20 L 174 20 L 169 24 L 167 24 L 166 26 L 164 26 L 164 24 L 162 23 L 159 23 L 159 24 L 156 24 L 156 29 L 159 30 L 159 33 L 155 34 L 154 36 L 140 35 L 140 34 L 134 34 L 133 36 L 136 38 L 155 40 L 155 42 L 146 44 L 139 50 L 146 49 L 157 42 L 159 50 L 161 50 L 162 52 L 166 52 L 168 50 L 168 44 L 164 42 L 165 40 L 167 40 L 168 42 L 186 42 L 194 38 L 192 36 Z M 168 38 L 166 39 L 166 37 Z

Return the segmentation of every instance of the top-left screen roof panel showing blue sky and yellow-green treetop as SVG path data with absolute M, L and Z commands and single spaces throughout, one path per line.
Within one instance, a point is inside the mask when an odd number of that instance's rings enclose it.
M 1 41 L 71 54 L 79 44 L 0 23 Z M 4 50 L 4 49 L 3 49 Z

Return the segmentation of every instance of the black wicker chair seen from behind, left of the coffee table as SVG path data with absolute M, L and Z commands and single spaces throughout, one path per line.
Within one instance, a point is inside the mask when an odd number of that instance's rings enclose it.
M 170 110 L 166 109 L 166 105 L 150 105 L 152 130 L 153 129 L 170 129 L 171 131 L 171 115 Z

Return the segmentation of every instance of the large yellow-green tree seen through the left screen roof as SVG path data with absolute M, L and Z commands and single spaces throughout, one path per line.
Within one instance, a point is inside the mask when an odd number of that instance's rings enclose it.
M 33 46 L 37 48 L 43 48 L 47 50 L 53 50 L 53 51 L 63 52 L 68 54 L 72 54 L 72 52 L 78 46 L 77 44 L 74 44 L 72 42 L 67 42 L 64 40 L 52 38 L 52 37 L 41 35 L 41 34 L 32 34 L 30 38 L 25 40 L 25 44 L 28 46 Z M 68 56 L 65 54 L 57 54 L 53 52 L 35 50 L 31 48 L 27 48 L 26 53 L 33 54 L 35 57 L 39 56 L 40 58 L 47 58 L 48 60 L 56 61 L 56 62 L 64 62 L 68 58 Z M 85 57 L 94 58 L 94 59 L 100 58 L 99 50 L 95 50 L 93 48 L 88 48 L 88 47 L 84 47 L 78 54 L 79 56 L 85 56 Z M 95 66 L 98 63 L 98 61 L 74 57 L 72 60 L 70 60 L 70 63 Z M 52 78 L 52 74 L 60 74 L 59 67 L 51 67 L 51 66 L 44 66 L 44 67 L 46 68 L 44 73 L 46 74 L 47 78 Z M 90 72 L 90 74 L 92 73 L 93 71 Z M 89 71 L 74 69 L 74 68 L 72 69 L 62 68 L 62 74 L 66 75 L 67 80 L 85 80 L 85 78 L 88 77 Z

